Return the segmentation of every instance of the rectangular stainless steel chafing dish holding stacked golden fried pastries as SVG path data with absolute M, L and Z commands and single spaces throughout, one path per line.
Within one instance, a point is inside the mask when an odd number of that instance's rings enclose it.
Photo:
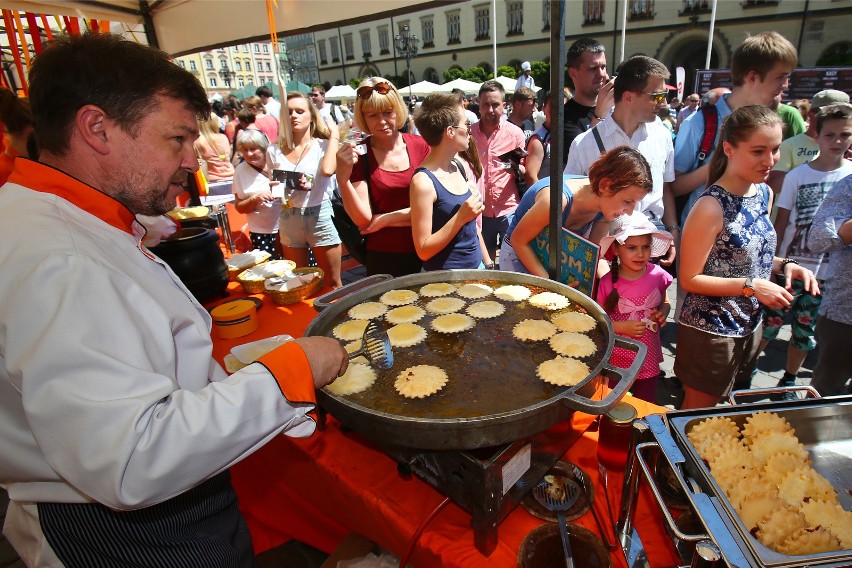
M 843 508 L 852 510 L 849 493 L 852 488 L 852 396 L 762 402 L 648 416 L 634 423 L 633 451 L 625 472 L 618 521 L 628 566 L 647 565 L 641 535 L 632 521 L 640 471 L 663 512 L 673 543 L 682 556 L 684 553 L 693 555 L 694 566 L 836 568 L 852 565 L 852 550 L 789 556 L 758 542 L 742 524 L 687 438 L 693 425 L 704 418 L 727 416 L 742 425 L 749 414 L 758 410 L 776 412 L 790 422 L 799 441 L 810 453 L 813 468 L 835 487 Z M 685 493 L 699 534 L 682 532 L 666 509 L 658 481 L 663 478 L 660 473 L 664 468 L 671 469 L 669 479 Z M 712 560 L 714 557 L 716 560 Z

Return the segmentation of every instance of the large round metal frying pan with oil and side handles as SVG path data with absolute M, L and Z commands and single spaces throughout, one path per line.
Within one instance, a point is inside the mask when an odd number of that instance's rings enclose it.
M 384 444 L 424 450 L 462 450 L 496 446 L 532 436 L 567 419 L 577 410 L 589 414 L 605 414 L 633 384 L 645 357 L 646 347 L 642 343 L 615 335 L 609 317 L 588 296 L 559 282 L 516 272 L 448 270 L 394 279 L 387 276 L 371 277 L 318 298 L 314 306 L 320 314 L 308 326 L 305 335 L 331 336 L 334 326 L 346 317 L 346 312 L 350 308 L 361 302 L 375 301 L 389 290 L 399 288 L 417 290 L 433 282 L 459 281 L 523 284 L 568 297 L 575 308 L 585 311 L 598 324 L 593 333 L 596 334 L 599 349 L 591 359 L 586 360 L 591 369 L 589 375 L 573 387 L 546 385 L 534 376 L 535 364 L 527 361 L 533 356 L 532 348 L 520 345 L 517 354 L 512 355 L 505 368 L 500 368 L 499 372 L 488 373 L 490 375 L 488 377 L 461 377 L 462 380 L 475 380 L 477 384 L 487 381 L 488 394 L 496 395 L 499 401 L 499 404 L 495 405 L 498 410 L 492 410 L 487 406 L 477 407 L 477 397 L 469 394 L 461 397 L 464 400 L 447 401 L 447 406 L 440 408 L 440 412 L 433 412 L 433 407 L 418 406 L 427 404 L 421 400 L 403 400 L 401 397 L 397 398 L 400 398 L 402 406 L 392 404 L 384 407 L 380 400 L 382 397 L 378 393 L 372 393 L 371 390 L 365 391 L 360 396 L 337 396 L 322 390 L 318 393 L 320 405 L 343 424 Z M 477 327 L 465 333 L 483 333 L 480 329 L 481 325 L 485 324 L 478 322 Z M 490 342 L 491 339 L 489 338 L 488 341 Z M 460 345 L 462 347 L 458 352 L 450 354 L 449 357 L 480 357 L 485 356 L 485 352 L 490 350 L 489 345 L 478 345 L 477 352 L 471 353 L 470 350 L 464 349 L 464 344 Z M 615 345 L 637 353 L 630 368 L 620 369 L 609 365 L 610 354 Z M 495 345 L 494 350 L 499 350 L 499 346 Z M 550 357 L 552 356 L 551 354 Z M 526 378 L 520 377 L 522 381 L 520 386 L 519 383 L 507 378 L 511 373 L 517 374 L 519 368 L 526 369 L 526 371 L 521 370 L 520 374 L 533 375 Z M 532 369 L 531 373 L 529 369 Z M 394 369 L 389 373 L 395 375 L 402 370 L 399 364 L 395 364 Z M 617 379 L 618 382 L 611 392 L 600 398 L 601 391 L 598 386 L 603 377 Z M 376 384 L 378 385 L 381 380 L 380 378 Z M 523 385 L 523 381 L 527 381 L 527 386 Z M 392 380 L 385 382 L 390 384 Z M 503 387 L 508 390 L 505 392 L 499 390 Z M 374 385 L 371 389 L 373 388 L 377 387 Z M 386 388 L 393 394 L 392 386 Z M 539 393 L 540 400 L 533 402 L 529 402 L 529 398 L 523 396 L 526 394 L 525 389 L 538 388 L 551 390 L 543 391 L 543 396 Z M 498 390 L 492 391 L 492 389 Z M 443 391 L 439 394 L 443 394 Z M 493 401 L 495 397 L 490 398 Z M 514 404 L 514 401 L 517 401 L 517 404 Z M 434 404 L 435 401 L 430 403 Z

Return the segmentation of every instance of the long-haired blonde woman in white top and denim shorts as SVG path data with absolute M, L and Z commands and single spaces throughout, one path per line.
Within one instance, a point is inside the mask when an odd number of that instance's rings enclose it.
M 332 176 L 337 167 L 340 134 L 337 125 L 320 119 L 302 93 L 287 94 L 292 147 L 282 142 L 267 151 L 271 169 L 295 172 L 295 188 L 287 189 L 288 207 L 281 210 L 279 234 L 284 258 L 308 265 L 308 248 L 325 272 L 326 284 L 340 288 L 340 237 L 331 220 Z M 286 174 L 285 174 L 286 175 Z

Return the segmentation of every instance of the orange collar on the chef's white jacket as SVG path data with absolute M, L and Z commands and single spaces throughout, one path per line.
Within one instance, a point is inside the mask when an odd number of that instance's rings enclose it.
M 63 171 L 26 158 L 17 158 L 9 183 L 16 183 L 33 191 L 52 193 L 127 233 L 133 234 L 132 225 L 136 217 L 127 207 L 86 185 Z

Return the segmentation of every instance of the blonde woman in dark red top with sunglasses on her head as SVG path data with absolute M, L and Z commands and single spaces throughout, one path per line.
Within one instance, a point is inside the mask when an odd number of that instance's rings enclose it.
M 419 136 L 399 131 L 408 109 L 399 92 L 381 77 L 361 82 L 355 100 L 355 124 L 370 137 L 359 154 L 352 142 L 337 153 L 337 183 L 346 213 L 367 240 L 368 274 L 402 276 L 419 272 L 411 235 L 408 188 L 429 153 Z

